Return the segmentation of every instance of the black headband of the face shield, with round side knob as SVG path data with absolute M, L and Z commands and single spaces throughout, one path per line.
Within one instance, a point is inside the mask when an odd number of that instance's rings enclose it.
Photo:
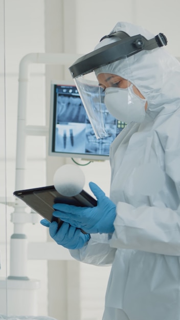
M 142 50 L 152 50 L 167 44 L 167 38 L 163 33 L 159 33 L 154 38 L 147 40 L 141 34 L 130 37 L 126 32 L 118 31 L 104 36 L 101 40 L 114 36 L 118 37 L 119 40 L 104 45 L 104 47 L 76 60 L 75 63 L 69 67 L 72 77 L 76 78 L 91 73 L 100 66 L 125 57 L 130 57 Z

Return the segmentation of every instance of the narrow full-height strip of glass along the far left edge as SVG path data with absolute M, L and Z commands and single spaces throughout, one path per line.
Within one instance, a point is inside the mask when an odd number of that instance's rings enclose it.
M 6 184 L 6 78 L 5 78 L 5 20 L 4 20 L 4 2 L 0 1 L 0 278 L 7 275 L 7 215 L 8 199 Z M 7 310 L 7 290 L 6 282 L 1 292 L 0 299 L 4 302 L 4 315 Z M 2 314 L 2 310 L 0 310 Z

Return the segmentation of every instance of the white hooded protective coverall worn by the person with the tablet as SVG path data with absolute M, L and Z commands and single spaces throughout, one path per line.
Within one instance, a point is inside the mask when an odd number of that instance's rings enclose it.
M 126 22 L 118 30 L 153 37 Z M 91 235 L 70 252 L 85 263 L 112 264 L 103 320 L 179 320 L 180 64 L 164 48 L 127 59 L 129 81 L 148 106 L 145 120 L 129 123 L 110 148 L 115 232 Z M 121 66 L 106 72 L 126 79 Z

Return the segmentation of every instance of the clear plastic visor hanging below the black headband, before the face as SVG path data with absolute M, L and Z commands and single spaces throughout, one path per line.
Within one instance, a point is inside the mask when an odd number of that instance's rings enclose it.
M 124 73 L 126 74 L 124 82 L 121 81 L 122 76 L 120 76 L 121 66 L 123 66 Z M 103 79 L 102 83 L 100 79 Z M 116 61 L 100 67 L 94 72 L 78 76 L 74 79 L 89 122 L 93 127 L 97 139 L 106 138 L 108 136 L 112 136 L 113 139 L 115 139 L 126 125 L 123 119 L 121 121 L 121 119 L 116 117 L 116 113 L 111 112 L 109 108 L 107 109 L 105 105 L 105 96 L 108 96 L 108 100 L 112 100 L 113 103 L 113 94 L 111 95 L 109 88 L 116 89 L 118 86 L 122 86 L 123 89 L 128 91 L 130 82 L 127 79 L 127 58 L 123 59 L 123 61 Z M 124 101 L 123 99 L 123 103 L 128 103 L 128 96 L 129 94 L 126 93 L 125 99 L 127 101 Z M 120 99 L 119 97 L 121 98 L 121 95 L 117 95 L 118 100 Z

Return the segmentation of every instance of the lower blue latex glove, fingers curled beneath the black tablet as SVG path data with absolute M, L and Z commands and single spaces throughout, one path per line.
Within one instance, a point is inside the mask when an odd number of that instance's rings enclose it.
M 40 223 L 49 227 L 50 236 L 57 244 L 68 249 L 80 249 L 90 239 L 89 234 L 83 234 L 80 229 L 67 222 L 63 222 L 59 229 L 56 221 L 50 223 L 43 219 Z

